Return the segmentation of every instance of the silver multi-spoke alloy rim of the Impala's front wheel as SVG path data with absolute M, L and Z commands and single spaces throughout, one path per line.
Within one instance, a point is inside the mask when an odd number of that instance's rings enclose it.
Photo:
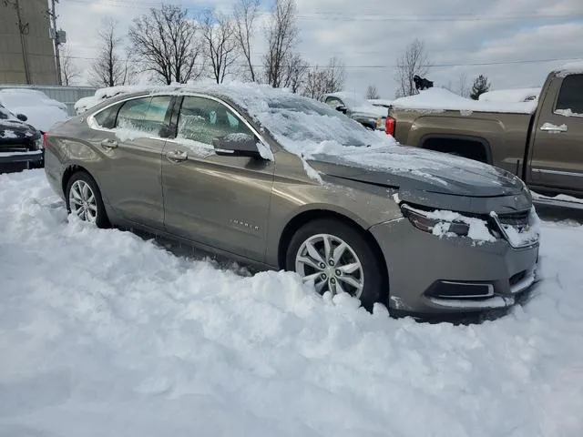
M 363 264 L 343 239 L 317 234 L 306 239 L 295 257 L 295 271 L 304 282 L 313 281 L 319 293 L 346 292 L 360 299 L 364 287 Z

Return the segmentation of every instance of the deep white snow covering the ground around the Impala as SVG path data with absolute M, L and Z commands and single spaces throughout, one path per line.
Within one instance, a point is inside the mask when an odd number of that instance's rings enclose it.
M 481 325 L 428 325 L 67 218 L 0 175 L 0 436 L 583 435 L 583 228 Z

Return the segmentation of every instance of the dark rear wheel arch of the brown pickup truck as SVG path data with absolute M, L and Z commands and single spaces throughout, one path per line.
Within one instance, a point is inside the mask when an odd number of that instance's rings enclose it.
M 492 164 L 490 143 L 483 137 L 464 135 L 427 135 L 419 141 L 419 147 L 457 155 L 463 158 Z

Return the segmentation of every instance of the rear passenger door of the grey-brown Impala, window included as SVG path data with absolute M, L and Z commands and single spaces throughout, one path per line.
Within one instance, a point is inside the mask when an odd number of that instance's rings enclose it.
M 171 96 L 128 99 L 93 116 L 108 172 L 99 181 L 111 208 L 125 219 L 164 229 L 161 156 Z M 168 118 L 167 118 L 168 117 Z

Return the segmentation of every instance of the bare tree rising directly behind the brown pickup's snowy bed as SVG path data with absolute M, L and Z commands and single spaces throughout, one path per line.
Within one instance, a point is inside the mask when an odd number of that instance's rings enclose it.
M 413 96 L 418 91 L 413 77 L 425 76 L 429 72 L 429 60 L 422 41 L 415 39 L 397 59 L 394 79 L 397 82 L 395 97 Z

